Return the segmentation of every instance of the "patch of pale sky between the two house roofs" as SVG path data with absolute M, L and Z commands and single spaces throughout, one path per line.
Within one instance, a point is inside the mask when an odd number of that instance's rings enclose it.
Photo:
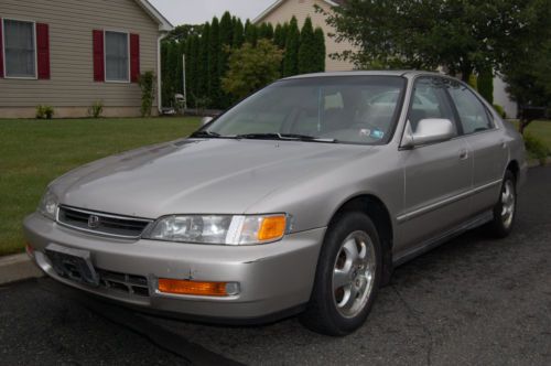
M 174 25 L 199 24 L 226 10 L 244 21 L 255 19 L 276 0 L 149 0 Z

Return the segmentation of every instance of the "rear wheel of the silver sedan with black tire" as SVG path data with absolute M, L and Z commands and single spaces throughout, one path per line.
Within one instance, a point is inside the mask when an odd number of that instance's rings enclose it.
M 493 237 L 505 238 L 515 224 L 517 215 L 517 180 L 512 172 L 505 173 L 499 201 L 494 206 L 494 218 L 488 224 L 488 232 Z

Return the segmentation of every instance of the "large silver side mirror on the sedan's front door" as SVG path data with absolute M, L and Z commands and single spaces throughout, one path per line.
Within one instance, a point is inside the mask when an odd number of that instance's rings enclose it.
M 441 118 L 421 119 L 415 131 L 412 131 L 408 121 L 402 140 L 402 148 L 414 148 L 422 144 L 450 140 L 455 136 L 455 128 L 451 120 Z

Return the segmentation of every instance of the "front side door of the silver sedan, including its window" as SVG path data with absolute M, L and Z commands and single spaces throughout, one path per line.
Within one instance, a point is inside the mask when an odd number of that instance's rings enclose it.
M 421 119 L 451 120 L 456 138 L 401 150 L 404 174 L 403 211 L 397 217 L 400 239 L 397 256 L 443 235 L 464 220 L 471 202 L 473 157 L 460 128 L 440 77 L 418 78 L 413 86 L 408 120 L 412 131 Z

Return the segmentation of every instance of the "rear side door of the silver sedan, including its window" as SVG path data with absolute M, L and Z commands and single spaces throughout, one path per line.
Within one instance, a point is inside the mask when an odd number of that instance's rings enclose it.
M 447 90 L 473 153 L 473 211 L 483 212 L 498 200 L 507 163 L 507 143 L 489 110 L 467 86 L 452 80 Z

